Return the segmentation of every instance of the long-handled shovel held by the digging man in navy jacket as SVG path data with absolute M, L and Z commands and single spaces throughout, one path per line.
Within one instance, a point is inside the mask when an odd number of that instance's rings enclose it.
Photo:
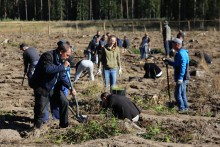
M 68 73 L 67 73 L 67 76 L 68 76 L 68 79 L 69 79 L 69 82 L 70 82 L 70 85 L 71 85 L 71 89 L 73 89 L 73 85 L 71 83 L 70 76 L 68 75 Z M 80 122 L 80 123 L 87 122 L 87 119 L 88 119 L 87 115 L 80 115 L 79 114 L 79 104 L 78 104 L 78 100 L 77 100 L 76 96 L 72 94 L 72 97 L 74 98 L 74 100 L 76 102 L 76 119 L 77 119 L 77 121 Z M 68 108 L 70 109 L 70 111 L 73 114 L 75 114 L 73 109 L 70 106 L 68 106 Z

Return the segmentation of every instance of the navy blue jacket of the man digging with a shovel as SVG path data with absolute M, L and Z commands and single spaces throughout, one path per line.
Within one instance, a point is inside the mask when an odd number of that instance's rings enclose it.
M 65 67 L 59 60 L 56 50 L 52 50 L 43 53 L 40 57 L 31 78 L 30 86 L 49 93 L 57 81 L 60 81 L 63 86 L 69 89 L 70 83 L 66 78 Z

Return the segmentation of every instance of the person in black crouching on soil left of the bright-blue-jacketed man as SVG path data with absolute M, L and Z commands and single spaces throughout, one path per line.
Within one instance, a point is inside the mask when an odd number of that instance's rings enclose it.
M 162 75 L 162 70 L 154 62 L 154 57 L 149 57 L 144 64 L 144 78 L 159 78 Z

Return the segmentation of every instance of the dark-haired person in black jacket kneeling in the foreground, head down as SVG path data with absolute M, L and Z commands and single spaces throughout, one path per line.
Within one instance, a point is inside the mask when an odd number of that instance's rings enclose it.
M 122 95 L 109 94 L 104 92 L 101 94 L 102 108 L 111 108 L 112 113 L 119 119 L 129 119 L 133 122 L 139 120 L 140 109 L 131 100 Z

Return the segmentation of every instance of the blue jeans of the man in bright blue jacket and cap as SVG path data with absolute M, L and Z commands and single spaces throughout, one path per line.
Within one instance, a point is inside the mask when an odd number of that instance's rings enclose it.
M 186 84 L 187 81 L 183 81 L 182 84 L 176 83 L 174 96 L 178 104 L 179 110 L 188 109 L 188 101 L 186 97 Z

